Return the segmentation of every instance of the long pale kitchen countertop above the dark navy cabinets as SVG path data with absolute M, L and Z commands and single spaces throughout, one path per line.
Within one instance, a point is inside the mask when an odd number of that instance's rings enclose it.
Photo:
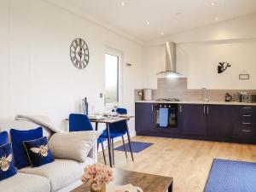
M 201 102 L 201 101 L 180 101 L 180 102 L 166 102 L 166 101 L 143 101 L 139 100 L 136 102 L 148 102 L 148 103 L 178 103 L 178 104 L 202 104 L 202 105 L 242 105 L 242 106 L 256 106 L 256 103 L 250 103 L 250 102 Z

